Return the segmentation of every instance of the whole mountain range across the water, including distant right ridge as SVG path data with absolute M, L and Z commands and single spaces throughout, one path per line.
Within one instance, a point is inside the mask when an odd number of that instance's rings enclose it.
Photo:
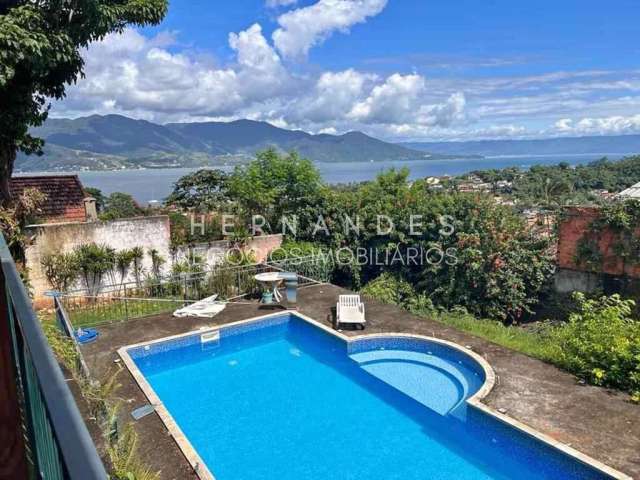
M 395 144 L 361 132 L 313 135 L 253 120 L 160 125 L 121 115 L 51 118 L 31 133 L 45 139 L 45 155 L 19 155 L 17 171 L 234 165 L 268 147 L 336 163 L 640 153 L 640 135 Z

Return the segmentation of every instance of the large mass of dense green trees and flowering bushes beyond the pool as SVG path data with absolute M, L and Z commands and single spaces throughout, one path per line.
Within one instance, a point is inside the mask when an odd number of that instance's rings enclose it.
M 212 218 L 234 214 L 232 241 L 241 244 L 252 216 L 261 215 L 265 232 L 284 230 L 290 241 L 274 255 L 281 259 L 293 248 L 333 252 L 340 258 L 334 258 L 331 279 L 344 286 L 358 288 L 388 272 L 437 306 L 463 305 L 512 322 L 532 312 L 553 273 L 548 241 L 512 208 L 489 195 L 434 193 L 424 181 L 411 182 L 408 170 L 333 189 L 311 162 L 267 150 L 237 167 L 226 187 L 218 176 L 198 178 L 212 187 L 193 190 L 188 204 L 206 205 L 211 191 L 223 194 L 225 209 Z M 193 178 L 187 180 L 178 183 L 191 185 Z M 183 241 L 194 238 L 186 227 Z

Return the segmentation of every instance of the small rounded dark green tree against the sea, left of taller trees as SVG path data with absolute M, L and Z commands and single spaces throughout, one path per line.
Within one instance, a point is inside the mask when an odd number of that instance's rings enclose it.
M 218 210 L 229 200 L 228 177 L 222 170 L 198 170 L 185 175 L 174 184 L 165 203 L 185 210 Z

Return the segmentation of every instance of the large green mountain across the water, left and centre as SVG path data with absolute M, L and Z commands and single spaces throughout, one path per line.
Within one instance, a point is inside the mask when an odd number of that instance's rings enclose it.
M 418 160 L 428 156 L 360 132 L 312 135 L 252 120 L 158 125 L 120 115 L 92 115 L 49 119 L 32 133 L 45 139 L 45 155 L 19 156 L 16 167 L 22 171 L 234 164 L 268 147 L 296 150 L 316 162 Z

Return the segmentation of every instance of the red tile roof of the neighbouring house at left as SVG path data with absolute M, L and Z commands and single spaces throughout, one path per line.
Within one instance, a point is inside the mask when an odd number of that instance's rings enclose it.
M 17 197 L 27 188 L 36 188 L 44 193 L 39 218 L 45 223 L 84 222 L 86 196 L 77 175 L 42 175 L 37 177 L 13 177 L 9 182 L 11 195 Z

